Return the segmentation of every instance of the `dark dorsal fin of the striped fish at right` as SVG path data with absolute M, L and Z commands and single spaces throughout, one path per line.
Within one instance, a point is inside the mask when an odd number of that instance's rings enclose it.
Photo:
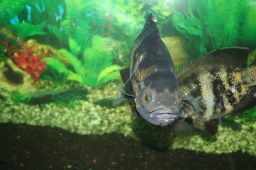
M 182 67 L 178 71 L 177 77 L 188 71 L 193 72 L 194 69 L 200 67 L 216 67 L 220 65 L 227 68 L 233 67 L 233 69 L 244 67 L 247 63 L 249 52 L 250 50 L 246 47 L 225 47 L 214 50 Z

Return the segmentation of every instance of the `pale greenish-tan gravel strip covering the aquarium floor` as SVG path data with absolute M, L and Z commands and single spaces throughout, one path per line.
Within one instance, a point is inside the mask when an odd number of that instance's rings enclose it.
M 144 122 L 137 121 L 140 118 L 132 116 L 128 103 L 117 108 L 102 107 L 93 103 L 102 98 L 117 98 L 119 94 L 115 87 L 118 84 L 110 83 L 107 86 L 102 86 L 100 89 L 89 88 L 90 94 L 87 95 L 88 99 L 77 101 L 73 108 L 61 106 L 58 103 L 46 103 L 41 106 L 16 105 L 14 101 L 7 98 L 6 101 L 0 101 L 0 120 L 1 123 L 48 125 L 82 135 L 102 135 L 117 132 L 146 142 L 137 135 L 142 133 L 150 138 L 157 138 L 155 142 L 150 143 L 150 145 L 155 145 L 153 147 L 161 147 L 159 145 L 163 145 L 162 142 L 164 142 L 164 147 L 169 147 L 169 149 L 185 148 L 215 154 L 241 150 L 256 156 L 256 123 L 255 121 L 248 121 L 246 116 L 229 117 L 240 123 L 242 127 L 240 131 L 223 128 L 219 125 L 219 132 L 215 135 L 216 140 L 206 140 L 201 134 L 191 137 L 174 137 L 171 136 L 169 131 L 164 130 L 163 132 L 163 130 L 155 128 L 153 125 L 145 126 Z M 134 128 L 134 125 L 137 128 Z M 159 137 L 161 139 L 158 139 Z M 166 142 L 166 139 L 170 141 Z

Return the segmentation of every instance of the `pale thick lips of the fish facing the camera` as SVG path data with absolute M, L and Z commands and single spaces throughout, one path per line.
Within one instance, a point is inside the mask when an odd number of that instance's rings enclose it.
M 161 120 L 175 120 L 178 118 L 174 108 L 158 108 L 154 111 L 149 112 L 151 119 L 158 118 Z

